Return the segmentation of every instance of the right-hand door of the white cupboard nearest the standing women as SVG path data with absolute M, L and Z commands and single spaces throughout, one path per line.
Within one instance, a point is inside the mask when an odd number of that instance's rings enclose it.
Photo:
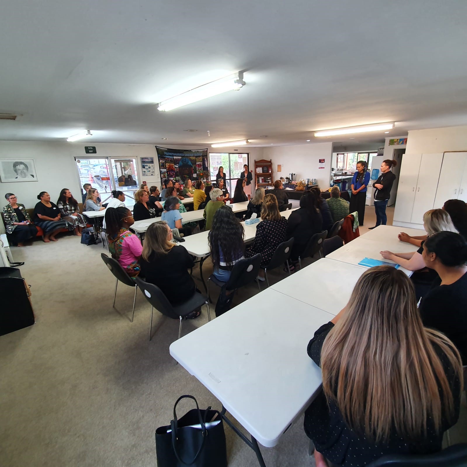
M 443 153 L 422 155 L 410 220 L 414 224 L 423 224 L 423 215 L 433 209 L 442 162 Z

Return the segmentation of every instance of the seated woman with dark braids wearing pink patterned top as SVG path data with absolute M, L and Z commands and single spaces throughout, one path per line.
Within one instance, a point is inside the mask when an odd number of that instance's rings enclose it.
M 143 250 L 138 236 L 128 230 L 133 224 L 133 214 L 128 208 L 107 208 L 106 231 L 110 254 L 131 277 L 140 273 L 139 260 Z

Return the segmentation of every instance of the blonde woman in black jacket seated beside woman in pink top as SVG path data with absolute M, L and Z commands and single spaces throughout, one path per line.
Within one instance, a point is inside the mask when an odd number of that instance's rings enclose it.
M 184 246 L 172 241 L 172 229 L 164 221 L 150 224 L 140 260 L 146 282 L 157 285 L 173 305 L 189 300 L 197 291 L 188 269 L 195 265 Z M 196 318 L 199 312 L 188 315 Z

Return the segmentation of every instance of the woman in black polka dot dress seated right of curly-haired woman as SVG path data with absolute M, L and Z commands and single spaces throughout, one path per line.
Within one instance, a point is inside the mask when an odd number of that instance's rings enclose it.
M 245 252 L 250 258 L 261 253 L 261 268 L 258 278 L 264 281 L 264 267 L 271 261 L 279 243 L 285 241 L 287 233 L 287 219 L 281 217 L 274 195 L 266 195 L 261 209 L 262 221 L 256 226 L 256 236 L 253 245 Z

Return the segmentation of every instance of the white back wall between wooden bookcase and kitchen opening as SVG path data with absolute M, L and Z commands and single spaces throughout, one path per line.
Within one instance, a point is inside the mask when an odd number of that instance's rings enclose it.
M 288 177 L 291 172 L 297 174 L 295 179 L 316 178 L 322 190 L 329 188 L 331 178 L 331 159 L 333 143 L 300 144 L 297 146 L 276 146 L 264 148 L 262 159 L 271 159 L 274 179 Z M 324 164 L 318 162 L 325 159 Z M 277 165 L 282 171 L 277 172 Z M 324 169 L 318 169 L 324 167 Z

